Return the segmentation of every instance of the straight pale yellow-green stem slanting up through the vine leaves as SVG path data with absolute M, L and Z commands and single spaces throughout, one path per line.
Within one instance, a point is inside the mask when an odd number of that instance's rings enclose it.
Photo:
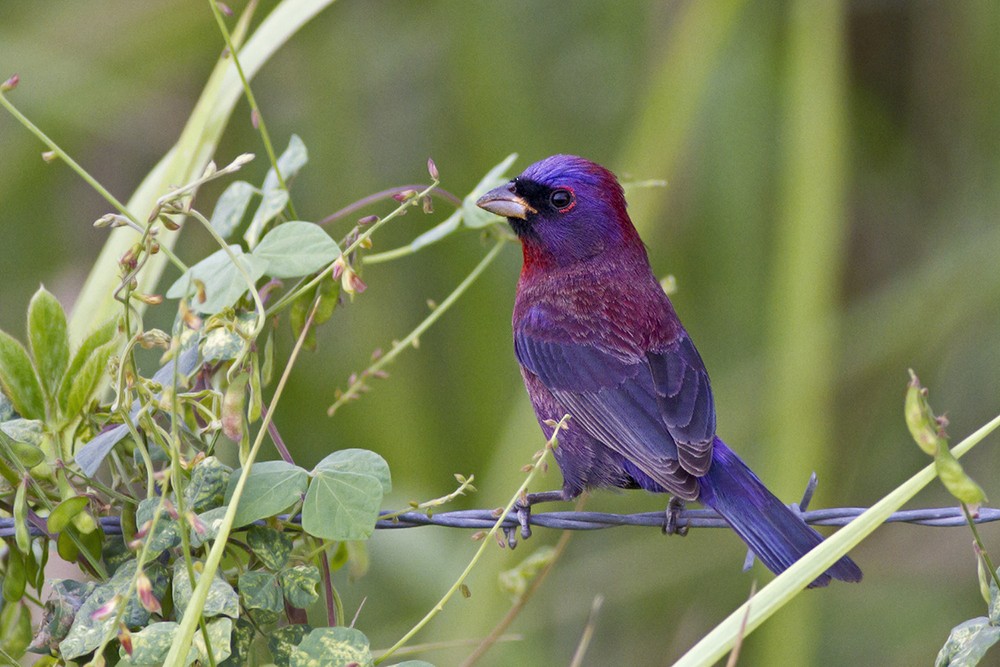
M 173 667 L 174 665 L 183 665 L 184 659 L 187 657 L 188 649 L 191 646 L 191 640 L 194 638 L 195 629 L 198 627 L 198 621 L 201 618 L 201 612 L 205 607 L 205 600 L 208 598 L 208 589 L 215 578 L 215 573 L 219 569 L 219 563 L 222 561 L 222 556 L 225 553 L 226 543 L 229 540 L 229 533 L 233 528 L 233 522 L 236 520 L 236 509 L 239 507 L 240 498 L 243 495 L 243 488 L 246 486 L 247 477 L 250 474 L 251 467 L 253 467 L 254 460 L 257 458 L 257 453 L 260 451 L 261 444 L 267 436 L 267 427 L 268 424 L 271 423 L 271 416 L 274 414 L 278 401 L 281 400 L 281 395 L 284 393 L 285 384 L 288 382 L 288 378 L 292 373 L 292 367 L 295 365 L 295 360 L 298 358 L 299 352 L 302 351 L 302 345 L 305 343 L 306 334 L 309 333 L 309 329 L 312 327 L 313 317 L 316 314 L 316 307 L 318 305 L 318 301 L 313 303 L 312 310 L 309 311 L 309 316 L 306 318 L 305 325 L 302 327 L 302 331 L 299 333 L 299 337 L 295 341 L 295 347 L 292 348 L 292 352 L 288 357 L 288 363 L 285 365 L 285 370 L 281 374 L 281 378 L 278 380 L 277 387 L 274 389 L 274 395 L 271 397 L 271 404 L 267 413 L 263 415 L 263 423 L 257 430 L 257 437 L 254 440 L 253 446 L 250 448 L 250 452 L 247 454 L 246 461 L 243 464 L 242 473 L 236 482 L 236 488 L 233 490 L 232 499 L 229 501 L 229 506 L 226 508 L 226 514 L 219 526 L 218 534 L 215 537 L 215 541 L 212 543 L 212 549 L 208 553 L 208 558 L 205 559 L 205 566 L 202 569 L 201 578 L 198 580 L 198 585 L 191 594 L 191 600 L 188 602 L 187 608 L 184 610 L 184 617 L 181 619 L 180 625 L 177 627 L 177 634 L 174 637 L 173 644 L 170 646 L 170 652 L 167 653 L 167 657 L 164 660 L 164 664 L 169 667 Z

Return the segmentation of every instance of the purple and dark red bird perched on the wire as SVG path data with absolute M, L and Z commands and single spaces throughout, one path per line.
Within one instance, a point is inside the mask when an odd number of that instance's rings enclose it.
M 618 487 L 672 494 L 670 532 L 683 501 L 711 507 L 775 573 L 822 541 L 715 434 L 708 372 L 614 174 L 554 155 L 477 204 L 521 240 L 514 351 L 538 422 L 551 437 L 546 422 L 572 417 L 555 449 L 562 490 L 522 503 L 524 537 L 533 503 Z M 859 581 L 861 570 L 845 556 L 811 586 L 831 578 Z

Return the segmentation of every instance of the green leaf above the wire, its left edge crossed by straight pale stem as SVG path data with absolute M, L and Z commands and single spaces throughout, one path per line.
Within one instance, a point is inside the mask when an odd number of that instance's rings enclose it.
M 227 503 L 233 496 L 233 490 L 241 474 L 242 471 L 237 470 L 229 477 Z M 243 496 L 236 510 L 233 527 L 239 528 L 288 509 L 298 502 L 308 484 L 309 473 L 297 465 L 285 461 L 263 461 L 254 464 L 243 487 Z

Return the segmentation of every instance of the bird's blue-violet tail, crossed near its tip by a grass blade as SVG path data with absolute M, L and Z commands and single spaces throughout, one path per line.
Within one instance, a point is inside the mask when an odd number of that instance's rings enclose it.
M 768 491 L 719 438 L 715 439 L 712 451 L 712 467 L 698 482 L 701 487 L 698 500 L 722 515 L 776 574 L 823 541 L 819 533 Z M 809 587 L 826 586 L 831 578 L 860 581 L 861 569 L 844 556 Z

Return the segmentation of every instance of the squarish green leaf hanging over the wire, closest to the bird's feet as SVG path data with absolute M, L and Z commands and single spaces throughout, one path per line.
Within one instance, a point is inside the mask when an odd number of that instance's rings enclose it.
M 372 475 L 319 470 L 302 505 L 302 529 L 327 540 L 366 540 L 375 530 L 382 489 Z

